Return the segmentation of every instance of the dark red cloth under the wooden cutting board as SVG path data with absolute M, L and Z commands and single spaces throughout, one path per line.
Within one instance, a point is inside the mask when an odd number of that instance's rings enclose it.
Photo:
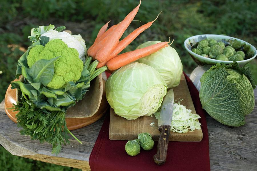
M 140 150 L 137 156 L 129 156 L 125 151 L 127 141 L 109 139 L 110 115 L 106 116 L 95 146 L 89 158 L 92 171 L 131 171 L 131 170 L 179 170 L 209 171 L 209 140 L 205 112 L 201 108 L 199 93 L 191 80 L 186 77 L 187 85 L 194 102 L 196 113 L 201 116 L 203 139 L 201 142 L 169 142 L 167 160 L 162 166 L 154 163 L 157 141 L 150 151 Z M 108 76 L 107 76 L 108 77 Z

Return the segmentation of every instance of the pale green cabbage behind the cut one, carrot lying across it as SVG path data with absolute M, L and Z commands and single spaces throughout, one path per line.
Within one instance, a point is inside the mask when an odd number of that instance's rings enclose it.
M 156 43 L 160 43 L 160 41 L 144 42 L 136 49 L 144 48 Z M 174 48 L 170 46 L 162 48 L 153 54 L 138 59 L 137 62 L 149 65 L 157 70 L 163 77 L 168 88 L 179 85 L 183 66 L 178 53 Z

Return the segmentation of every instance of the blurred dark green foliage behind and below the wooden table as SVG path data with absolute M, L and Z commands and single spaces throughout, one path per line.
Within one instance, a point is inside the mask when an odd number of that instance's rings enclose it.
M 1 0 L 0 101 L 15 78 L 19 56 L 30 45 L 27 36 L 30 35 L 32 27 L 49 23 L 55 26 L 65 25 L 73 34 L 81 34 L 87 47 L 90 47 L 103 24 L 109 20 L 110 25 L 119 23 L 136 5 L 137 0 Z M 154 20 L 160 11 L 162 14 L 153 25 L 136 38 L 125 51 L 134 50 L 145 41 L 167 41 L 170 37 L 174 39 L 172 46 L 182 60 L 184 71 L 190 73 L 196 64 L 183 47 L 184 40 L 190 36 L 225 34 L 257 47 L 257 1 L 254 0 L 142 0 L 134 19 L 141 22 L 133 21 L 124 36 L 140 25 Z M 256 61 L 253 60 L 248 66 L 252 68 L 257 82 Z M 14 168 L 23 166 L 28 170 L 40 166 L 40 162 L 11 156 L 3 147 L 0 153 L 5 154 L 5 158 L 0 159 L 0 168 L 5 168 L 6 164 Z M 24 166 L 25 163 L 27 166 Z M 57 170 L 69 169 L 55 167 Z M 55 170 L 55 167 L 49 164 L 46 170 Z

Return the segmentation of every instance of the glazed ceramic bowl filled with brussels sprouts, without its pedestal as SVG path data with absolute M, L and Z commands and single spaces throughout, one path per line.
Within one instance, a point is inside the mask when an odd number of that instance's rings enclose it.
M 256 57 L 256 48 L 238 38 L 202 34 L 189 37 L 184 46 L 194 61 L 202 68 L 209 69 L 216 63 L 229 64 L 237 61 L 242 67 Z

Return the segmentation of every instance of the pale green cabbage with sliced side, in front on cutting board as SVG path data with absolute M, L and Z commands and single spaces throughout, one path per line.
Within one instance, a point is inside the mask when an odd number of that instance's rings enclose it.
M 167 93 L 162 76 L 151 66 L 130 63 L 114 72 L 105 83 L 107 101 L 126 119 L 150 116 Z

